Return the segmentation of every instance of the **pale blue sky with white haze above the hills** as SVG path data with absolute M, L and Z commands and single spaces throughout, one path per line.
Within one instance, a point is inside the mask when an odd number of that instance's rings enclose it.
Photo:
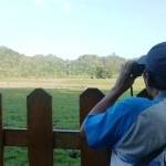
M 126 59 L 166 41 L 166 0 L 0 0 L 0 45 L 25 55 Z

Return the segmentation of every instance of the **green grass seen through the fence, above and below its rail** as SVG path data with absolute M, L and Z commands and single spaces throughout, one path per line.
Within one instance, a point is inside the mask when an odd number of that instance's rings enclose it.
M 33 89 L 1 89 L 3 105 L 3 125 L 6 127 L 27 127 L 27 95 Z M 53 97 L 54 128 L 79 129 L 79 97 L 83 90 L 46 90 Z M 104 93 L 107 90 L 103 91 Z M 126 93 L 123 97 L 128 96 Z M 79 166 L 80 157 L 70 157 L 71 151 L 54 151 L 54 163 L 58 166 Z M 7 147 L 6 166 L 28 166 L 27 148 Z

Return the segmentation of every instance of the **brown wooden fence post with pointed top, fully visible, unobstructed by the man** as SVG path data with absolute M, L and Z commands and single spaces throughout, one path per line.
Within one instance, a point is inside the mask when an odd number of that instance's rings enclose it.
M 38 89 L 27 103 L 30 166 L 53 166 L 52 98 Z

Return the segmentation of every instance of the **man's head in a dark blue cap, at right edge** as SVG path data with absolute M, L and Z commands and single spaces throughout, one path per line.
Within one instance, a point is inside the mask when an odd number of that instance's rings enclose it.
M 166 42 L 154 45 L 144 56 L 144 81 L 153 96 L 158 91 L 166 91 Z

